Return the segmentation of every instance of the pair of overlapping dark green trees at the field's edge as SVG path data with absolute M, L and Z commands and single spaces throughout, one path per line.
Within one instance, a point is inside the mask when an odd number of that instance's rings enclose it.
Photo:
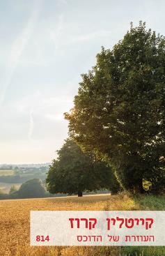
M 162 193 L 165 186 L 165 38 L 139 22 L 81 75 L 65 113 L 70 139 L 47 176 L 48 190 L 107 188 Z

